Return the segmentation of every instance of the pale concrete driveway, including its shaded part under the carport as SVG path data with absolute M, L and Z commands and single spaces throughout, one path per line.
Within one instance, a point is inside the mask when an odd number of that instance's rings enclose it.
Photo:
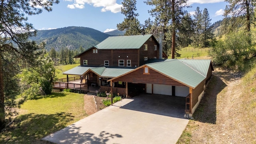
M 57 144 L 175 144 L 188 124 L 185 99 L 141 94 L 123 99 L 42 140 Z

